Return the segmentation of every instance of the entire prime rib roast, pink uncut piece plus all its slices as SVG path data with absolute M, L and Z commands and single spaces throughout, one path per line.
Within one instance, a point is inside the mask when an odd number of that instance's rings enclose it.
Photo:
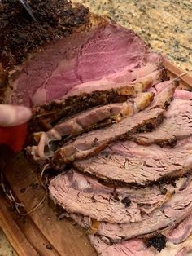
M 0 2 L 0 100 L 33 109 L 25 152 L 57 170 L 50 197 L 99 255 L 190 253 L 192 92 L 109 17 L 28 2 L 35 23 Z

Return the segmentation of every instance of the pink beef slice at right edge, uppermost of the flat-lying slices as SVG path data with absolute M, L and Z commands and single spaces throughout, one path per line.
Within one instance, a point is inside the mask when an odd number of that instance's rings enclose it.
M 177 139 L 192 135 L 192 92 L 176 90 L 174 98 L 160 126 L 150 133 L 132 136 L 137 143 L 174 146 Z

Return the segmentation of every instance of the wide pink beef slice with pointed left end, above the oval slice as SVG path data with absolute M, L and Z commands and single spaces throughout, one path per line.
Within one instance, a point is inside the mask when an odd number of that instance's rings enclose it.
M 182 139 L 175 148 L 125 141 L 111 144 L 98 156 L 76 161 L 74 166 L 107 182 L 142 186 L 190 172 L 191 153 L 191 137 Z

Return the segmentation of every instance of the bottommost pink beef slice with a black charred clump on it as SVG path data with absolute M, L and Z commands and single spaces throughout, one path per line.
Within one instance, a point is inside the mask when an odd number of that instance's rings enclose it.
M 164 234 L 163 236 L 151 236 L 151 238 L 144 240 L 132 239 L 113 245 L 107 245 L 99 236 L 89 235 L 89 241 L 98 252 L 98 255 L 103 256 L 184 256 L 192 251 L 191 227 L 192 217 L 189 216 L 177 227 L 173 228 L 173 230 L 172 227 L 170 227 L 165 232 L 162 232 Z M 169 229 L 171 229 L 171 232 Z M 155 241 L 155 244 L 153 244 L 153 241 Z M 151 245 L 151 247 L 149 247 L 149 245 Z

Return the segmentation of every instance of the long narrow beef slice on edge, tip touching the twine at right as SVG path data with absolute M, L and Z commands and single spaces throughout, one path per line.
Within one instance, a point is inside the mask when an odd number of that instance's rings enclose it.
M 77 137 L 74 142 L 59 148 L 52 158 L 53 166 L 57 169 L 62 168 L 63 163 L 96 155 L 107 148 L 110 143 L 118 139 L 126 139 L 133 132 L 152 130 L 163 121 L 163 114 L 168 103 L 172 100 L 176 86 L 175 82 L 170 83 L 166 89 L 155 95 L 152 104 L 148 108 L 133 117 L 127 117 L 106 129 L 94 130 Z

